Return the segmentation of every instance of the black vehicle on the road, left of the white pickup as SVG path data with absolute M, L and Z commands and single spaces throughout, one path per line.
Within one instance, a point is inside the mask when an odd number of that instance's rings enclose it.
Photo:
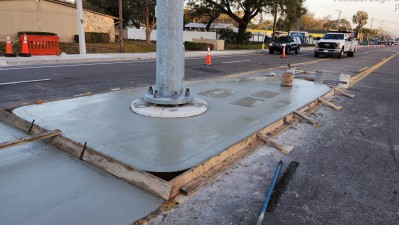
M 283 52 L 283 45 L 285 44 L 285 52 L 290 53 L 295 51 L 295 54 L 299 53 L 301 49 L 301 39 L 298 36 L 280 36 L 274 42 L 269 44 L 269 53 Z

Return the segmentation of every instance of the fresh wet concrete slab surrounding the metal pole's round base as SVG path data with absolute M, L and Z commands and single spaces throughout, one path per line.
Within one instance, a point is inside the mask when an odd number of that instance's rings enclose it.
M 144 88 L 26 106 L 14 113 L 48 129 L 61 129 L 66 137 L 87 142 L 133 167 L 174 172 L 211 158 L 329 91 L 327 86 L 303 80 L 295 80 L 292 88 L 281 87 L 279 80 L 265 77 L 189 85 L 193 94 L 208 102 L 207 113 L 176 119 L 132 113 L 130 103 L 142 96 Z M 214 89 L 231 95 L 213 97 Z

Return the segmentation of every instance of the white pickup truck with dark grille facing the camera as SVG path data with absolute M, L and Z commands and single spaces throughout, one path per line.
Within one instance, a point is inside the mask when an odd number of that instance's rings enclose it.
M 316 42 L 314 49 L 314 57 L 319 58 L 320 55 L 338 56 L 342 58 L 344 53 L 349 57 L 355 56 L 358 41 L 350 36 L 350 33 L 326 33 L 320 40 Z

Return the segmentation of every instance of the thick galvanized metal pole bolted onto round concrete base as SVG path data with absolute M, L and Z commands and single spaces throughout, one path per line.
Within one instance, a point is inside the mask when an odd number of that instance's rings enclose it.
M 156 87 L 144 96 L 147 102 L 160 105 L 180 105 L 192 101 L 183 90 L 184 0 L 157 0 L 157 62 Z

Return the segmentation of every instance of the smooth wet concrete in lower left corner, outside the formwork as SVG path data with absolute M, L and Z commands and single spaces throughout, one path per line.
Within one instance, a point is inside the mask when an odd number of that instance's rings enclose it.
M 0 142 L 26 134 L 0 123 Z M 0 151 L 0 224 L 132 224 L 163 200 L 44 142 Z

